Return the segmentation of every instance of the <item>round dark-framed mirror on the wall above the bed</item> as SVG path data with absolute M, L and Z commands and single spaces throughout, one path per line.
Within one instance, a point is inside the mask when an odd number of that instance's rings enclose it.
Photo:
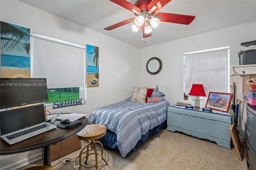
M 149 74 L 158 74 L 162 70 L 162 61 L 152 57 L 148 60 L 146 68 Z

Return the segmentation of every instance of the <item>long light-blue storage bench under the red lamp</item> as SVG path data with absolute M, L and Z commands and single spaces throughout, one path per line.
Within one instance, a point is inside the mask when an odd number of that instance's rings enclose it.
M 232 116 L 229 113 L 210 113 L 183 106 L 169 106 L 167 110 L 167 130 L 207 139 L 229 149 L 231 123 Z

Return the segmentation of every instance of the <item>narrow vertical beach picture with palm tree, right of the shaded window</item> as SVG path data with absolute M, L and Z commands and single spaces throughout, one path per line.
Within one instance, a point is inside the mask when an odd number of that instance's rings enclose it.
M 87 87 L 99 86 L 99 48 L 86 44 Z

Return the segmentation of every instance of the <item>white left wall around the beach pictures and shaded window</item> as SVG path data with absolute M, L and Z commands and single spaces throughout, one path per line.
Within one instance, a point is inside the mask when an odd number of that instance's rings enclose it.
M 0 1 L 0 20 L 30 28 L 31 32 L 81 45 L 99 47 L 99 87 L 87 88 L 87 105 L 52 110 L 76 112 L 87 116 L 96 108 L 119 102 L 140 85 L 139 48 L 74 24 L 16 0 Z M 1 156 L 0 170 L 11 170 L 41 157 L 40 150 Z M 27 160 L 27 158 L 31 158 Z M 14 164 L 15 163 L 15 164 Z

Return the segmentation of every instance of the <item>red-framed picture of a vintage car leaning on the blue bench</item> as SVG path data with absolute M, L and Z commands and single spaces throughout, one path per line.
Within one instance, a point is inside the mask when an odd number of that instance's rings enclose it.
M 228 113 L 233 93 L 209 92 L 205 108 Z

